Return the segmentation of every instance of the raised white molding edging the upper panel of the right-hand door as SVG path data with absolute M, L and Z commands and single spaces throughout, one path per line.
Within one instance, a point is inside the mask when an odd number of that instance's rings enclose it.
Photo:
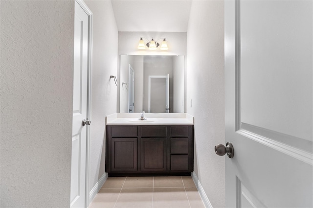
M 243 123 L 241 120 L 241 25 L 240 1 L 235 0 L 235 129 L 249 139 L 313 165 L 313 142 Z M 305 147 L 305 149 L 303 149 Z

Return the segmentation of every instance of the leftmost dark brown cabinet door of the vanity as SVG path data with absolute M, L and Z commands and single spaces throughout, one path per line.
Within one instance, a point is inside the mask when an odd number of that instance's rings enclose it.
M 137 171 L 137 138 L 112 138 L 111 170 Z

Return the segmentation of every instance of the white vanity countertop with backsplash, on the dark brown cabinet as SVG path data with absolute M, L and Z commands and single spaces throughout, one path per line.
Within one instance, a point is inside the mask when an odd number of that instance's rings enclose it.
M 113 113 L 106 116 L 106 125 L 193 125 L 194 117 L 187 113 Z

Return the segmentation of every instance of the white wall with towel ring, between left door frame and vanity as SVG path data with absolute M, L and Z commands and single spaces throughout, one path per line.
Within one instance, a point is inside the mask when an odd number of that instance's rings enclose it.
M 93 14 L 89 192 L 105 174 L 105 117 L 116 113 L 117 26 L 109 0 L 85 0 Z

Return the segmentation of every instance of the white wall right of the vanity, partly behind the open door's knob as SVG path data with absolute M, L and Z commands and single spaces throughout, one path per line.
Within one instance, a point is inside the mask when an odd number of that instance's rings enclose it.
M 190 102 L 192 100 L 192 107 Z M 224 1 L 193 1 L 187 31 L 187 113 L 195 116 L 195 173 L 213 207 L 225 206 Z

